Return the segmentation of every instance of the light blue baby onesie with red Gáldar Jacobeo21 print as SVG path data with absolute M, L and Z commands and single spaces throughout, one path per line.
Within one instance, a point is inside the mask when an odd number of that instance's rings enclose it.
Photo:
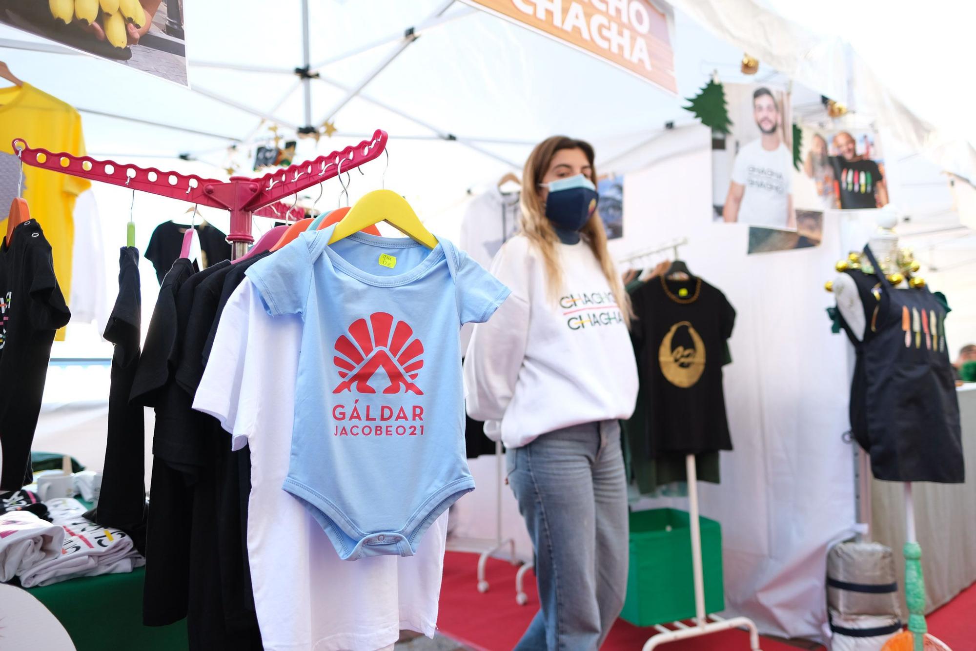
M 474 489 L 465 458 L 460 327 L 508 288 L 441 239 L 302 233 L 247 275 L 272 316 L 304 319 L 284 489 L 340 557 L 410 556 Z M 260 346 L 274 346 L 261 342 Z

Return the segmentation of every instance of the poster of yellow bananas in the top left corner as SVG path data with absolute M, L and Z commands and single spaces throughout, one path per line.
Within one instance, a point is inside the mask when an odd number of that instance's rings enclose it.
M 0 22 L 187 85 L 183 0 L 0 0 Z

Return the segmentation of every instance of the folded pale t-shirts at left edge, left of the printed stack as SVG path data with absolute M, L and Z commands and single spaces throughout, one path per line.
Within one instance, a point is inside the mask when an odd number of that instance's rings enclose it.
M 64 530 L 28 510 L 0 513 L 0 583 L 61 555 Z

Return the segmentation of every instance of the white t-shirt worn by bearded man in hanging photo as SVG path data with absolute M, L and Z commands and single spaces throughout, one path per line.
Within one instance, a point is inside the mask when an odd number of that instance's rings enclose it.
M 772 151 L 762 148 L 761 138 L 744 145 L 732 166 L 732 181 L 746 186 L 739 224 L 787 227 L 793 156 L 782 142 Z

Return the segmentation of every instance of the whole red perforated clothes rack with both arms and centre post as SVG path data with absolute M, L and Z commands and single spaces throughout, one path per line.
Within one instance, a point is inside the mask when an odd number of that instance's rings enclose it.
M 257 179 L 230 177 L 229 181 L 204 179 L 195 174 L 164 172 L 154 167 L 142 168 L 130 163 L 98 160 L 91 156 L 54 153 L 47 149 L 35 149 L 22 138 L 15 138 L 12 144 L 25 165 L 230 211 L 227 241 L 233 247 L 233 258 L 236 259 L 243 255 L 248 244 L 254 242 L 251 234 L 252 216 L 277 217 L 274 211 L 259 212 L 261 208 L 306 187 L 333 179 L 341 171 L 346 172 L 375 159 L 386 150 L 388 138 L 386 131 L 377 129 L 371 140 L 347 146 L 340 151 L 268 172 Z

